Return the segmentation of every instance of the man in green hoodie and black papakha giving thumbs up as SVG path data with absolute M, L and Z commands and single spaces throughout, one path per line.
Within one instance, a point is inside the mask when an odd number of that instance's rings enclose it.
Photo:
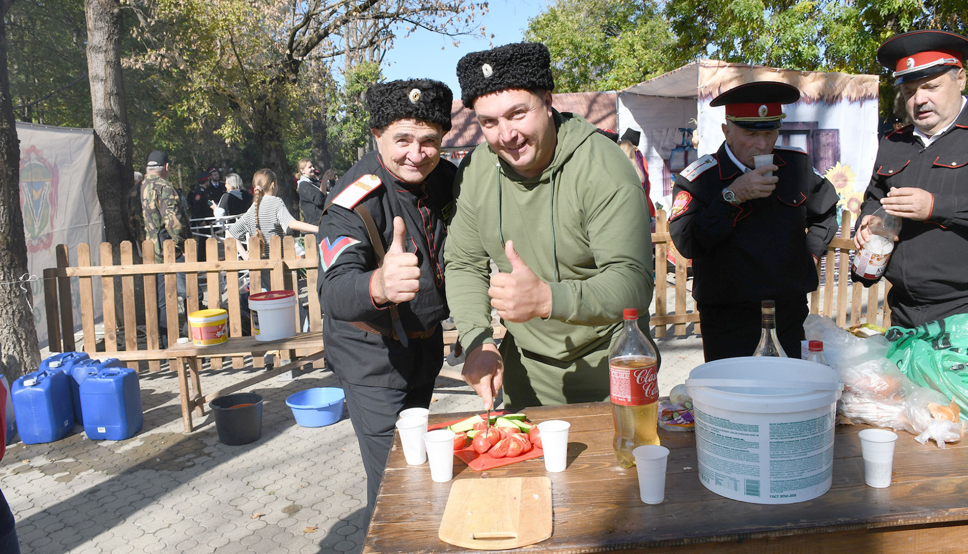
M 470 53 L 457 75 L 487 140 L 458 170 L 444 245 L 464 378 L 485 408 L 502 385 L 511 409 L 604 400 L 622 309 L 638 308 L 649 335 L 645 191 L 614 142 L 552 107 L 543 44 Z M 500 348 L 492 306 L 508 331 Z

